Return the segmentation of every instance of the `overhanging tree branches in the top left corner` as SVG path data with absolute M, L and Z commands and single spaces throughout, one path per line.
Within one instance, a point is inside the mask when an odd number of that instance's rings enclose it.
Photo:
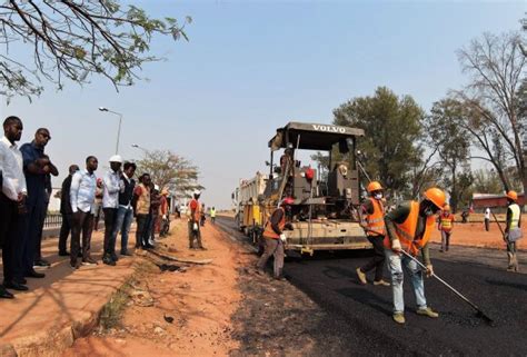
M 62 89 L 64 79 L 88 83 L 106 77 L 118 89 L 140 79 L 155 34 L 188 40 L 185 24 L 153 19 L 142 9 L 116 0 L 3 1 L 0 4 L 0 93 L 29 99 L 42 92 L 41 78 Z M 32 63 L 9 54 L 11 47 L 31 51 Z

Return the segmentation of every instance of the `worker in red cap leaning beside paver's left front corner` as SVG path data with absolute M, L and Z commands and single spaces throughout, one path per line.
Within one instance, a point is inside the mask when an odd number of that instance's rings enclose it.
M 287 224 L 286 210 L 291 209 L 291 205 L 295 200 L 291 197 L 286 197 L 277 209 L 272 212 L 269 220 L 266 222 L 264 229 L 264 240 L 265 240 L 265 251 L 258 260 L 256 268 L 259 275 L 264 275 L 264 269 L 266 268 L 267 260 L 271 256 L 275 257 L 274 265 L 274 276 L 277 280 L 284 280 L 284 257 L 285 249 L 284 244 L 287 240 L 284 229 L 292 229 L 290 224 Z

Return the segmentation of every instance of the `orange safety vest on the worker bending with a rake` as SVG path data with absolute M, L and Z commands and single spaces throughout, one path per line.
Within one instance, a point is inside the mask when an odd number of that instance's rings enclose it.
M 402 249 L 408 251 L 412 256 L 417 256 L 419 249 L 425 247 L 430 239 L 430 234 L 434 230 L 434 226 L 436 224 L 436 219 L 434 216 L 427 217 L 425 224 L 425 231 L 420 239 L 416 239 L 416 229 L 417 229 L 417 220 L 419 219 L 419 204 L 416 201 L 410 202 L 410 214 L 406 218 L 406 220 L 398 225 L 395 224 L 396 235 L 400 240 L 400 245 Z M 388 235 L 385 237 L 385 247 L 391 249 L 390 238 Z

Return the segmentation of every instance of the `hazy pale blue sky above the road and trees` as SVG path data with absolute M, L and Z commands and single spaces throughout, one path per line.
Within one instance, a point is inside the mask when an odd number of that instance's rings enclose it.
M 461 88 L 456 50 L 484 32 L 518 30 L 524 1 L 131 1 L 155 17 L 192 18 L 189 41 L 153 39 L 163 61 L 143 67 L 148 80 L 115 90 L 91 78 L 29 102 L 0 102 L 0 115 L 24 123 L 20 143 L 39 127 L 60 187 L 71 163 L 96 155 L 98 175 L 115 153 L 140 159 L 170 149 L 191 160 L 207 206 L 230 208 L 240 179 L 265 171 L 268 140 L 289 121 L 329 123 L 332 110 L 386 86 L 425 109 Z M 29 56 L 23 51 L 9 56 Z M 30 58 L 17 58 L 30 60 Z

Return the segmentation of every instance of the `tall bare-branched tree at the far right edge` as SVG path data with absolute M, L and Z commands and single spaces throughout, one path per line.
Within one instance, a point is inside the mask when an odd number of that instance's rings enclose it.
M 517 32 L 485 33 L 460 49 L 458 59 L 470 82 L 457 95 L 466 108 L 464 127 L 496 169 L 504 189 L 510 188 L 507 167 L 513 166 L 526 191 L 525 118 L 519 115 L 518 89 L 527 58 L 519 41 Z

